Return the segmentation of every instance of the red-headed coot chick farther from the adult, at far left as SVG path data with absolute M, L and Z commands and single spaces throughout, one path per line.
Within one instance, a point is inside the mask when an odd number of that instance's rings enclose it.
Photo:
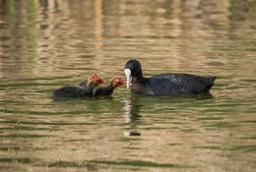
M 62 98 L 76 98 L 76 97 L 89 97 L 93 96 L 94 90 L 97 86 L 105 82 L 100 79 L 96 74 L 89 77 L 88 82 L 81 83 L 80 86 L 63 86 L 52 92 L 54 99 Z

